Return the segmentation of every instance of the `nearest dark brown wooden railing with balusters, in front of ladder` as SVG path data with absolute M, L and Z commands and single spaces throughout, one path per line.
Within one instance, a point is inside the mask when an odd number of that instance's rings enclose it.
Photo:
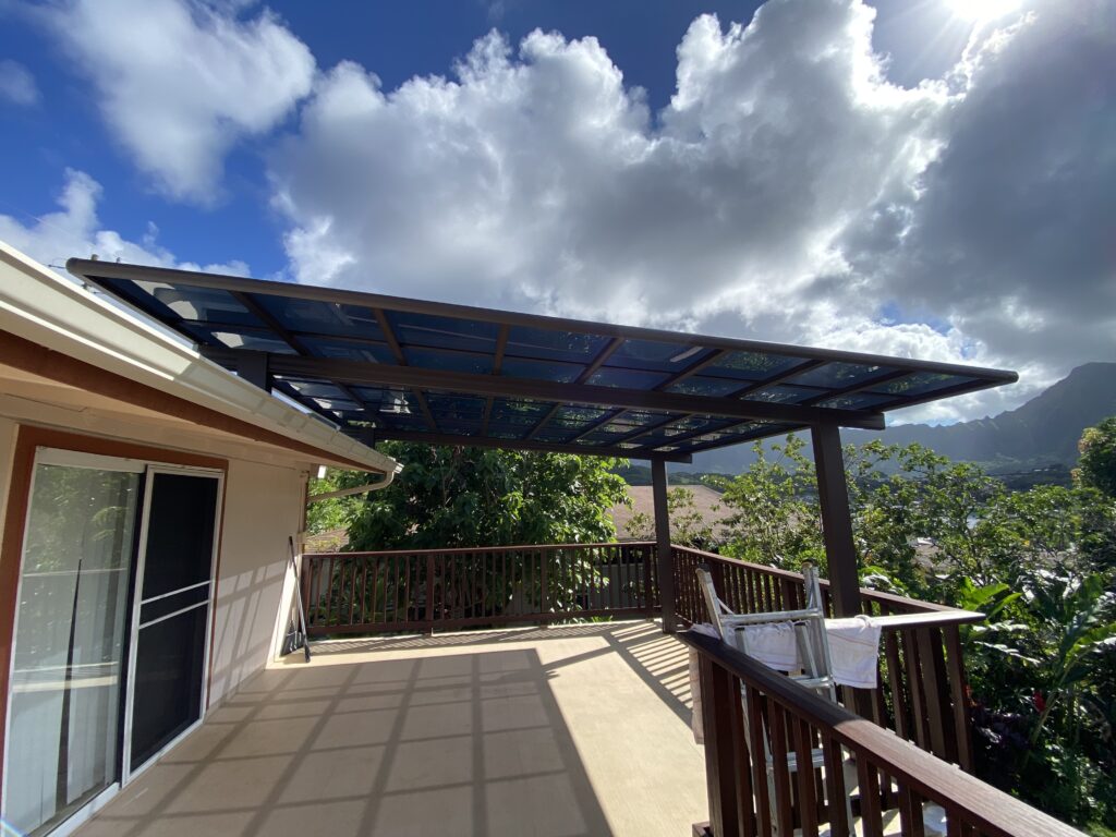
M 951 837 L 1080 835 L 720 639 L 680 637 L 700 661 L 710 821 L 695 835 L 921 836 L 924 804 Z M 789 754 L 805 764 L 817 750 L 821 768 L 789 769 Z

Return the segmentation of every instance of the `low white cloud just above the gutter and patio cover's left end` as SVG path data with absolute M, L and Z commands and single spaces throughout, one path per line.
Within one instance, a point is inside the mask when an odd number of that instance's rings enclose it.
M 105 261 L 124 261 L 154 267 L 204 270 L 212 273 L 248 276 L 242 261 L 198 264 L 179 261 L 157 241 L 158 229 L 148 224 L 140 242 L 129 241 L 115 230 L 106 230 L 97 218 L 102 186 L 85 172 L 66 172 L 66 184 L 58 195 L 58 211 L 39 215 L 23 223 L 10 215 L 0 215 L 0 241 L 32 259 L 65 273 L 66 259 L 89 258 L 96 253 Z

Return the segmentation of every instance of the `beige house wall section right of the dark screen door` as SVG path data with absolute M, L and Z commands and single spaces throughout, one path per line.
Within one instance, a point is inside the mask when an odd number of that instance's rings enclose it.
M 287 538 L 301 525 L 306 477 L 292 468 L 229 462 L 211 704 L 275 655 L 294 589 Z

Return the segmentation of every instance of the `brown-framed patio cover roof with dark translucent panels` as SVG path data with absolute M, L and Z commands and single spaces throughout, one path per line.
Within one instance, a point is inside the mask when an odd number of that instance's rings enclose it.
M 365 443 L 690 461 L 1013 372 L 70 259 L 67 269 Z

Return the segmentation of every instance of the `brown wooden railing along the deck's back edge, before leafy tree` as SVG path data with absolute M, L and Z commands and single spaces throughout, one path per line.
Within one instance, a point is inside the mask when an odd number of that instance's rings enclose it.
M 658 604 L 654 551 L 626 542 L 307 554 L 307 633 L 650 616 Z

